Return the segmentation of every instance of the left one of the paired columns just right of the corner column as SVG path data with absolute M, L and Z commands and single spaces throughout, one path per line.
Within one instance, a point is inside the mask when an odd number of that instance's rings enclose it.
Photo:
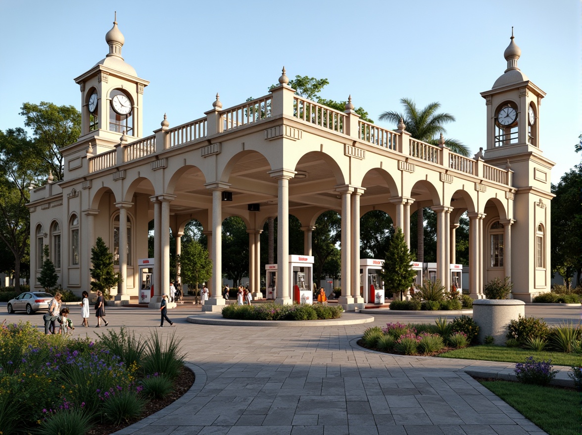
M 354 188 L 349 185 L 336 187 L 336 192 L 342 195 L 342 295 L 338 299 L 338 303 L 343 306 L 346 311 L 353 311 L 354 297 L 352 296 L 352 235 L 350 230 L 352 228 L 351 217 L 351 200 Z

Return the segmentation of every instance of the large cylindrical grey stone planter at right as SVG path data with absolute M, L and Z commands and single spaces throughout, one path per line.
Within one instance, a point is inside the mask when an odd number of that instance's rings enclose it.
M 526 302 L 516 299 L 478 299 L 473 301 L 473 320 L 479 325 L 479 343 L 485 337 L 495 338 L 496 345 L 505 345 L 509 321 L 526 315 Z

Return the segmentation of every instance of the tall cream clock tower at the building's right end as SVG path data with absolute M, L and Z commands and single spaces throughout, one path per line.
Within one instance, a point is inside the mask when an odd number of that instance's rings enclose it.
M 555 163 L 542 152 L 540 106 L 545 92 L 517 66 L 521 49 L 514 42 L 513 29 L 503 56 L 507 61 L 505 72 L 491 90 L 481 92 L 487 105 L 487 149 L 483 158 L 489 165 L 512 170 L 512 191 L 499 198 L 507 202 L 508 216 L 499 216 L 496 222 L 491 217 L 485 223 L 484 237 L 489 240 L 489 231 L 495 226 L 504 228 L 508 240 L 502 245 L 512 265 L 513 297 L 531 302 L 536 294 L 550 288 L 551 169 Z M 511 240 L 519 240 L 520 249 L 512 251 Z M 489 266 L 487 261 L 484 266 Z

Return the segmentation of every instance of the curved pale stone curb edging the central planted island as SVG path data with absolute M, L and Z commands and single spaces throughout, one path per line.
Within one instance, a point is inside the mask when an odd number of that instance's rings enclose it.
M 344 317 L 347 316 L 348 319 Z M 353 317 L 352 319 L 349 319 Z M 343 313 L 340 319 L 325 320 L 235 320 L 225 319 L 221 313 L 218 314 L 201 314 L 188 316 L 187 322 L 198 323 L 200 325 L 223 325 L 223 326 L 342 326 L 342 325 L 360 325 L 362 323 L 374 322 L 374 316 L 356 313 Z

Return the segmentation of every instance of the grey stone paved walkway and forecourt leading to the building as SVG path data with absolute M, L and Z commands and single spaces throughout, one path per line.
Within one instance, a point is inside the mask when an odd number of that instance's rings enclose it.
M 109 329 L 175 331 L 196 373 L 186 395 L 117 434 L 544 434 L 465 373 L 503 375 L 513 364 L 393 356 L 356 345 L 367 327 L 414 320 L 377 315 L 364 325 L 293 328 L 187 323 L 198 310 L 172 309 L 169 318 L 176 327 L 159 329 L 156 311 L 107 308 Z M 554 312 L 556 319 L 576 319 L 580 312 L 561 310 Z M 5 317 L 42 323 L 40 313 Z M 80 323 L 76 308 L 71 318 Z M 77 327 L 74 332 L 104 331 Z

